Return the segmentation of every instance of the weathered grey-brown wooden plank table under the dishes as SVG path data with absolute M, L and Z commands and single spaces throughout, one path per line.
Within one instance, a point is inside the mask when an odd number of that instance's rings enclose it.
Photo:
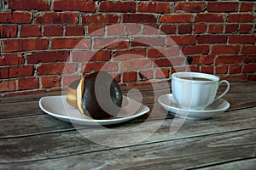
M 120 140 L 116 147 L 96 144 L 73 124 L 61 122 L 39 109 L 42 96 L 58 93 L 2 98 L 0 169 L 253 169 L 256 82 L 235 81 L 230 85 L 230 92 L 224 96 L 230 102 L 228 111 L 208 120 L 186 120 L 172 135 L 173 116 L 167 114 L 163 118 L 166 111 L 152 97 L 152 89 L 139 87 L 143 104 L 151 109 L 154 106 L 158 113 L 150 123 L 162 123 L 147 139 L 128 145 L 122 145 Z M 157 90 L 163 91 L 161 87 Z M 125 94 L 127 89 L 123 91 Z M 106 128 L 119 132 L 137 127 L 148 115 Z M 99 131 L 96 136 L 108 138 L 106 132 Z

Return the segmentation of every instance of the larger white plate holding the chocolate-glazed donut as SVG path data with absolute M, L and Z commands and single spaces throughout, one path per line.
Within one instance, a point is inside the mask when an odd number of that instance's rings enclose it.
M 127 122 L 138 116 L 143 116 L 150 111 L 148 106 L 126 96 L 123 96 L 123 106 L 121 111 L 119 111 L 119 117 L 109 120 L 93 120 L 85 118 L 78 109 L 67 104 L 66 95 L 43 97 L 39 100 L 39 107 L 45 113 L 54 116 L 61 121 L 82 125 L 111 125 Z

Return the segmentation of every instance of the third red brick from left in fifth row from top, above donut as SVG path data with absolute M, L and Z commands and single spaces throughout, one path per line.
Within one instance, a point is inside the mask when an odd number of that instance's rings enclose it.
M 74 62 L 83 61 L 108 61 L 111 58 L 111 51 L 73 51 Z

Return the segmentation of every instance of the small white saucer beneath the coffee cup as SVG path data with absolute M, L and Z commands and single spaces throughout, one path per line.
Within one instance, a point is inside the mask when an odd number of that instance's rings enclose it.
M 191 120 L 208 119 L 217 116 L 230 108 L 230 103 L 228 101 L 225 99 L 217 99 L 212 105 L 207 106 L 204 111 L 180 109 L 172 94 L 160 96 L 158 102 L 173 115 Z

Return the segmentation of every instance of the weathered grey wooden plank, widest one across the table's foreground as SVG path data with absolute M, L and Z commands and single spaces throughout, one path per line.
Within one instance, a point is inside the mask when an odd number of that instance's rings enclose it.
M 19 160 L 15 163 L 2 163 L 0 167 L 32 169 L 53 167 L 57 169 L 70 167 L 76 169 L 192 168 L 253 156 L 256 148 L 255 138 L 256 129 L 250 129 L 96 152 L 81 149 L 79 155 L 71 153 L 67 156 L 55 156 L 52 159 L 45 158 L 38 161 Z M 60 150 L 61 147 L 56 146 L 56 148 Z M 48 150 L 44 151 L 48 152 Z

